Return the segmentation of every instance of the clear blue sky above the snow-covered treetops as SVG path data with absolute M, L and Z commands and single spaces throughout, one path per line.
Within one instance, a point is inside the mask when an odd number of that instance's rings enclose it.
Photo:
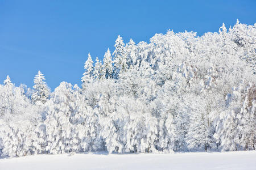
M 256 21 L 256 1 L 2 1 L 0 82 L 33 86 L 38 70 L 54 90 L 81 85 L 88 52 L 100 59 L 121 35 L 147 41 L 155 33 L 217 32 L 222 23 Z

